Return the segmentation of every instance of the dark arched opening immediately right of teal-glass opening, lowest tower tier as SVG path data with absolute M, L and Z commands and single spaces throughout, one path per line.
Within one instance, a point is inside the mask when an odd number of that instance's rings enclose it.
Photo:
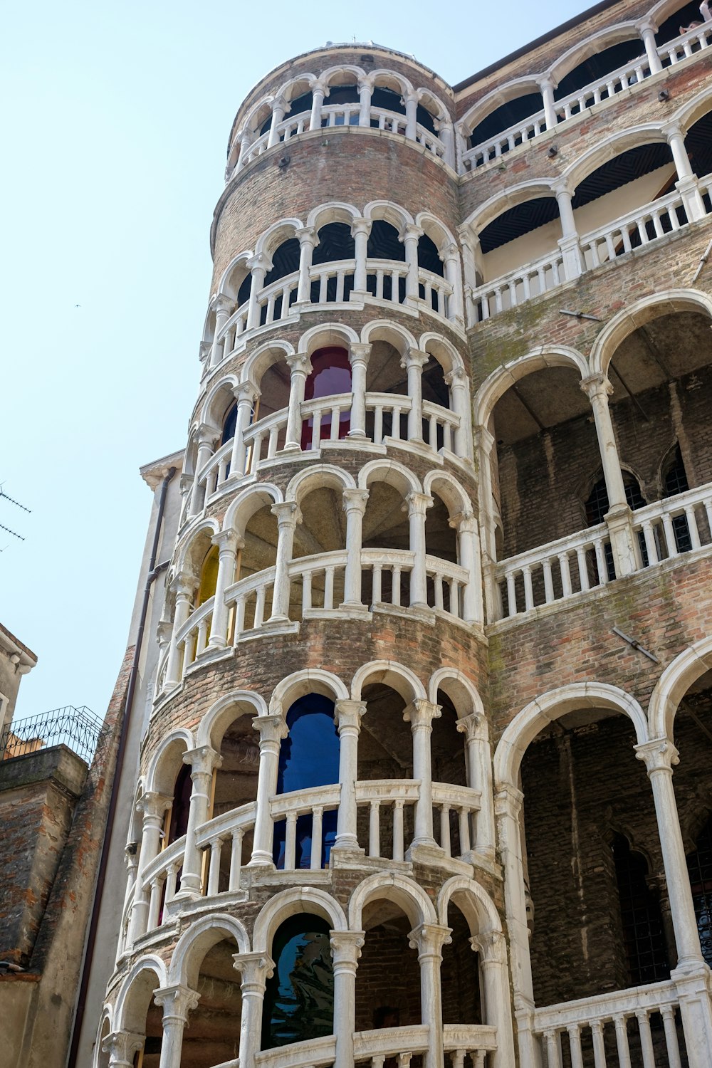
M 417 952 L 408 940 L 413 926 L 400 906 L 386 898 L 369 901 L 364 909 L 366 937 L 355 981 L 357 1031 L 422 1022 Z

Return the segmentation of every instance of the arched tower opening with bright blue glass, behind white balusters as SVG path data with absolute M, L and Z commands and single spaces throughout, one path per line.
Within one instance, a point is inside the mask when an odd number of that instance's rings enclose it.
M 338 732 L 334 720 L 334 702 L 319 693 L 310 693 L 291 705 L 286 717 L 289 733 L 280 748 L 278 794 L 292 794 L 315 786 L 331 786 L 338 782 Z M 323 813 L 321 822 L 321 867 L 329 866 L 331 847 L 336 837 L 336 810 Z M 311 813 L 296 821 L 295 855 L 287 855 L 287 820 L 274 823 L 274 864 L 282 868 L 312 866 L 313 818 Z M 330 1034 L 331 1032 L 327 1032 Z

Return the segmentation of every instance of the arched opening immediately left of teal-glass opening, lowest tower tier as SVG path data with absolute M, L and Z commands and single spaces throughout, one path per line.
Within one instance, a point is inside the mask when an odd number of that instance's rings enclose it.
M 195 989 L 197 1006 L 183 1033 L 180 1068 L 212 1068 L 239 1056 L 242 994 L 233 957 L 238 946 L 224 938 L 203 957 Z

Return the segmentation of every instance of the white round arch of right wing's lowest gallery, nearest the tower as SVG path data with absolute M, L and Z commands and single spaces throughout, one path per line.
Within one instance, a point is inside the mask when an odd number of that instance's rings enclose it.
M 635 697 L 607 682 L 572 682 L 535 697 L 506 727 L 494 752 L 495 789 L 517 787 L 522 757 L 541 728 L 581 708 L 620 712 L 632 721 L 636 743 L 648 741 L 648 721 Z

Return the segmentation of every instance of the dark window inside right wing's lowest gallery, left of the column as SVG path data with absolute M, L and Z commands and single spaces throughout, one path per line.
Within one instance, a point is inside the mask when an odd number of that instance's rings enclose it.
M 614 838 L 613 859 L 631 986 L 666 979 L 670 965 L 663 921 L 658 897 L 648 886 L 646 860 L 622 834 Z

